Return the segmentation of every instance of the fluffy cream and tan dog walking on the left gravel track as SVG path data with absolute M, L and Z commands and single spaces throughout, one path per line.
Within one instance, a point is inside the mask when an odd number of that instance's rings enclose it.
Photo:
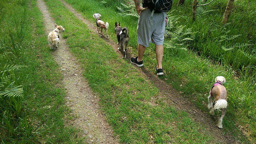
M 55 29 L 49 33 L 48 35 L 48 43 L 50 45 L 50 49 L 57 49 L 58 48 L 58 44 L 60 41 L 60 32 L 64 32 L 64 28 L 62 26 L 58 26 L 57 24 L 55 24 Z

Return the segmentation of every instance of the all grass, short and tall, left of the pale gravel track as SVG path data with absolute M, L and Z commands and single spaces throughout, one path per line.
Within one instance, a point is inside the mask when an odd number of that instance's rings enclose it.
M 28 0 L 4 0 L 0 10 L 1 66 L 19 66 L 9 71 L 10 82 L 23 89 L 19 97 L 1 95 L 1 143 L 82 143 L 79 131 L 63 120 L 69 110 L 62 76 L 50 54 L 36 1 L 29 7 Z

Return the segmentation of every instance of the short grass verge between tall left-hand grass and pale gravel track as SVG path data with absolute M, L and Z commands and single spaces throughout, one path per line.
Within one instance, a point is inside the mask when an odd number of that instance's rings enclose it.
M 36 0 L 32 0 L 31 9 L 36 38 L 33 37 L 35 43 L 32 48 L 35 50 L 31 50 L 34 53 L 30 55 L 33 55 L 34 58 L 35 55 L 39 55 L 39 58 L 31 60 L 31 68 L 28 68 L 28 70 L 35 70 L 32 73 L 37 73 L 33 77 L 31 76 L 34 91 L 29 101 L 30 109 L 33 110 L 35 118 L 37 118 L 35 121 L 40 125 L 38 140 L 47 143 L 82 143 L 83 139 L 79 138 L 78 130 L 65 124 L 64 119 L 72 119 L 72 117 L 67 116 L 69 109 L 64 103 L 66 94 L 61 84 L 62 75 L 50 54 L 46 39 L 48 34 L 44 33 L 43 17 L 36 7 Z

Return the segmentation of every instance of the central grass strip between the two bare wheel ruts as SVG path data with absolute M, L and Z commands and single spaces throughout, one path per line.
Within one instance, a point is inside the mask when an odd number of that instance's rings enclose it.
M 209 143 L 204 126 L 158 99 L 158 89 L 62 3 L 45 0 L 63 38 L 84 69 L 115 134 L 124 143 Z M 155 100 L 156 99 L 156 100 Z M 152 105 L 153 103 L 153 105 Z

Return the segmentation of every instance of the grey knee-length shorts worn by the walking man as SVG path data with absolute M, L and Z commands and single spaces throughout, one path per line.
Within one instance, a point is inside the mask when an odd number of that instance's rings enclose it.
M 149 46 L 149 42 L 156 45 L 163 45 L 165 17 L 165 12 L 154 13 L 151 24 L 151 11 L 149 9 L 142 11 L 137 27 L 137 43 L 145 47 Z

